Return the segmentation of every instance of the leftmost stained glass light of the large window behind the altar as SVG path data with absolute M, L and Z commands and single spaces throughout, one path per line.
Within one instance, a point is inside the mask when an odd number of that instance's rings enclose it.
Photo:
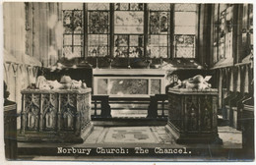
M 81 57 L 83 53 L 83 10 L 63 11 L 63 56 Z

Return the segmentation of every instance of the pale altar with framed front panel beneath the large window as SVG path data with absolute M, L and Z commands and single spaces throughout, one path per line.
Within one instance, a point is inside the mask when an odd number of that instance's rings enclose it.
M 94 95 L 150 97 L 165 92 L 165 71 L 160 69 L 94 69 Z

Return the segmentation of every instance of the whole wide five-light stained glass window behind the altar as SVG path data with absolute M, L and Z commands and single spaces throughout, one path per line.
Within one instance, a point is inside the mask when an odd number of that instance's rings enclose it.
M 80 5 L 63 10 L 65 57 L 195 58 L 196 4 Z

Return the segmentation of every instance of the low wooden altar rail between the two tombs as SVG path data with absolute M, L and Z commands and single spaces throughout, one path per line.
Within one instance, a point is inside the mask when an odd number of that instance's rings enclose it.
M 111 118 L 111 112 L 119 111 L 121 113 L 126 110 L 131 111 L 135 117 L 146 113 L 145 118 L 166 118 L 168 110 L 167 96 L 165 94 L 156 94 L 150 98 L 109 97 L 108 95 L 92 96 L 93 119 Z

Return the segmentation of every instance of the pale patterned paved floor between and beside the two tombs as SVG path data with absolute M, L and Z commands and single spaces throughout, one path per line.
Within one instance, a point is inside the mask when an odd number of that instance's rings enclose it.
M 224 126 L 219 127 L 219 137 L 224 144 L 217 147 L 241 148 L 241 132 Z M 198 144 L 181 145 L 175 143 L 174 139 L 166 134 L 164 126 L 153 127 L 95 127 L 93 133 L 84 143 L 62 143 L 62 146 L 96 147 L 96 146 L 141 146 L 155 147 L 163 146 L 199 146 Z M 59 143 L 45 142 L 18 142 L 18 147 L 48 147 L 59 146 Z

